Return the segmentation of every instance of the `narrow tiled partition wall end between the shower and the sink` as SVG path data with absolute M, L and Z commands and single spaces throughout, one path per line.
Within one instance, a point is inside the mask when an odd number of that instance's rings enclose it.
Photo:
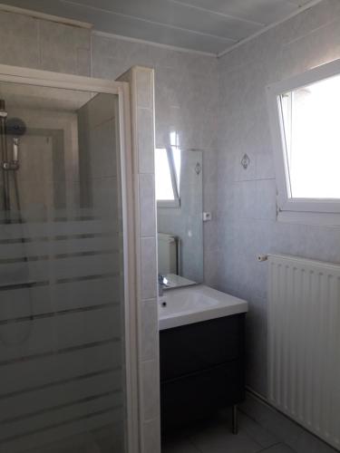
M 160 453 L 160 357 L 154 177 L 154 72 L 134 66 L 120 77 L 130 82 L 132 172 L 137 207 L 137 318 L 139 338 L 141 453 Z

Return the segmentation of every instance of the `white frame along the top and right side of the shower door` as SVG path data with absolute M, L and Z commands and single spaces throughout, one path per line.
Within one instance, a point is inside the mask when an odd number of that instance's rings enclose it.
M 92 77 L 83 77 L 62 72 L 49 72 L 24 67 L 0 64 L 0 82 L 23 83 L 41 87 L 116 94 L 119 104 L 120 168 L 121 168 L 121 206 L 123 228 L 123 265 L 124 265 L 124 360 L 126 389 L 126 447 L 127 453 L 140 451 L 140 427 L 138 406 L 138 338 L 136 313 L 137 273 L 134 236 L 134 199 L 131 145 L 131 107 L 130 84 Z M 112 149 L 113 151 L 113 149 Z

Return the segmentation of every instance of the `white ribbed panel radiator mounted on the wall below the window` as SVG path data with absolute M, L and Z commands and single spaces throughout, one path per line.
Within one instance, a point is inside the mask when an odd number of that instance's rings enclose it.
M 268 263 L 268 398 L 340 448 L 340 265 Z

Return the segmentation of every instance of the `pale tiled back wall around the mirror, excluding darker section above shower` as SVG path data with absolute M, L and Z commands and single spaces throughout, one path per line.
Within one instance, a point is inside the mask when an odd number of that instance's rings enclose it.
M 92 75 L 114 79 L 134 64 L 155 70 L 156 146 L 179 136 L 182 149 L 203 150 L 204 209 L 213 220 L 204 224 L 204 270 L 207 284 L 215 284 L 216 179 L 218 143 L 218 61 L 144 43 L 92 36 Z

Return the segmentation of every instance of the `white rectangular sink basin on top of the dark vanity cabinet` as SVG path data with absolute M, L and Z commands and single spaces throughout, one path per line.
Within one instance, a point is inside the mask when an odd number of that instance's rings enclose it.
M 160 330 L 248 312 L 248 303 L 204 284 L 171 289 L 159 299 Z

